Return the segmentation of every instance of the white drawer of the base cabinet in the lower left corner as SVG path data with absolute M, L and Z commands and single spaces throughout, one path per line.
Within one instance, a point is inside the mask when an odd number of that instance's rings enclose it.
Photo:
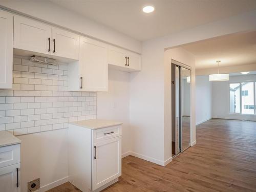
M 0 147 L 0 168 L 20 163 L 20 144 Z

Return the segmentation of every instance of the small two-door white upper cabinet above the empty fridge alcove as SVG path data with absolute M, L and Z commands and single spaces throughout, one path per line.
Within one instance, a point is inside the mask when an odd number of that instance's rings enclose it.
M 108 63 L 112 68 L 121 71 L 140 71 L 141 56 L 121 48 L 109 46 Z

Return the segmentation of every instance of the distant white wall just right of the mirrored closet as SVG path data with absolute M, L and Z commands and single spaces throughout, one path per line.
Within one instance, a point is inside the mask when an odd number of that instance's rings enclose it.
M 196 124 L 211 119 L 212 82 L 208 75 L 196 76 Z

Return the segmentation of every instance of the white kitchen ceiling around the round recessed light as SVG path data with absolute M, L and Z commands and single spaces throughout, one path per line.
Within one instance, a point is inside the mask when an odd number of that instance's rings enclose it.
M 256 10 L 255 0 L 48 0 L 117 31 L 146 40 Z M 142 7 L 153 5 L 153 13 Z

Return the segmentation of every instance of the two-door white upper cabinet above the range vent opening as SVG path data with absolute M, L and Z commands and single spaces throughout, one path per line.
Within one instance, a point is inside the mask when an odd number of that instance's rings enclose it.
M 15 15 L 13 48 L 39 53 L 40 56 L 53 55 L 78 60 L 79 36 L 33 19 Z M 17 52 L 20 54 L 22 51 Z

